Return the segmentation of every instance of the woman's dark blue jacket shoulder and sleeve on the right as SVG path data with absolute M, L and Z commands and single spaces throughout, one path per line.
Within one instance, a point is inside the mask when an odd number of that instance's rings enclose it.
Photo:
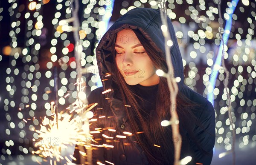
M 211 102 L 186 85 L 183 85 L 180 92 L 186 95 L 192 102 L 199 105 L 198 110 L 195 110 L 194 113 L 203 128 L 195 124 L 193 133 L 196 136 L 196 140 L 203 146 L 204 151 L 207 151 L 208 154 L 201 153 L 194 142 L 191 142 L 190 144 L 195 153 L 195 158 L 193 159 L 195 159 L 196 162 L 208 165 L 212 161 L 213 147 L 215 145 L 215 110 Z

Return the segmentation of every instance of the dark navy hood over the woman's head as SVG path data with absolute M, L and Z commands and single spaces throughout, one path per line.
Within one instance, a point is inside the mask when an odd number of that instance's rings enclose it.
M 111 98 L 115 86 L 112 83 L 111 76 L 107 76 L 108 73 L 113 73 L 113 44 L 116 41 L 116 33 L 124 28 L 139 29 L 140 32 L 150 41 L 150 44 L 154 47 L 162 50 L 165 55 L 164 37 L 161 30 L 161 17 L 159 9 L 150 8 L 135 8 L 128 11 L 108 29 L 99 42 L 96 48 L 96 59 L 99 68 L 99 76 L 102 81 L 104 90 L 111 89 L 111 92 L 106 94 L 106 97 Z M 173 46 L 170 48 L 172 54 L 172 64 L 175 77 L 180 77 L 181 81 L 178 83 L 179 90 L 183 85 L 183 64 L 178 47 L 175 31 L 172 26 L 172 22 L 168 19 L 168 27 L 171 38 L 173 40 Z

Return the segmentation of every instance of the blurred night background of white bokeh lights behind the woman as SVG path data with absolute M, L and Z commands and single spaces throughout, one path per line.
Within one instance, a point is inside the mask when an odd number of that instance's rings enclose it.
M 154 0 L 79 0 L 81 65 L 86 94 L 102 86 L 95 48 L 118 17 L 134 8 L 160 6 Z M 167 0 L 167 14 L 175 27 L 183 57 L 184 83 L 208 98 L 216 112 L 216 140 L 212 165 L 232 164 L 232 127 L 227 112 L 221 65 L 218 0 Z M 0 164 L 49 164 L 32 154 L 33 139 L 44 118 L 51 118 L 54 69 L 58 68 L 59 111 L 72 109 L 77 97 L 76 62 L 69 0 L 0 1 Z M 224 60 L 228 75 L 236 164 L 256 164 L 256 1 L 222 0 Z M 214 82 L 214 86 L 212 83 Z M 63 135 L 65 136 L 65 135 Z M 61 150 L 73 155 L 74 145 Z M 221 154 L 224 153 L 224 154 Z M 220 155 L 221 154 L 221 155 Z M 71 159 L 70 159 L 71 160 Z M 67 159 L 58 164 L 68 164 Z

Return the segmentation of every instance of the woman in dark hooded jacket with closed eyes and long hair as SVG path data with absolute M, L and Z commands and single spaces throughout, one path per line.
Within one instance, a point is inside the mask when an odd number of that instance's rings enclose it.
M 93 134 L 93 164 L 174 162 L 171 126 L 160 125 L 171 117 L 170 93 L 166 78 L 155 74 L 157 69 L 168 72 L 161 25 L 159 10 L 132 9 L 109 28 L 96 48 L 103 87 L 87 97 L 89 103 L 98 102 L 92 110 L 97 121 L 90 125 L 90 131 L 98 131 Z M 181 78 L 177 105 L 172 105 L 180 120 L 180 159 L 192 156 L 189 164 L 209 165 L 215 143 L 215 111 L 207 99 L 183 85 L 182 58 L 171 20 L 168 26 L 173 73 Z M 83 163 L 77 146 L 74 156 L 76 163 Z

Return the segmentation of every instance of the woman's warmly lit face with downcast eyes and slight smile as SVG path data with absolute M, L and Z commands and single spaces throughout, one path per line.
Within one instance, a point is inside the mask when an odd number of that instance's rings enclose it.
M 134 31 L 125 28 L 116 36 L 116 65 L 128 85 L 151 86 L 159 83 L 156 68 Z

